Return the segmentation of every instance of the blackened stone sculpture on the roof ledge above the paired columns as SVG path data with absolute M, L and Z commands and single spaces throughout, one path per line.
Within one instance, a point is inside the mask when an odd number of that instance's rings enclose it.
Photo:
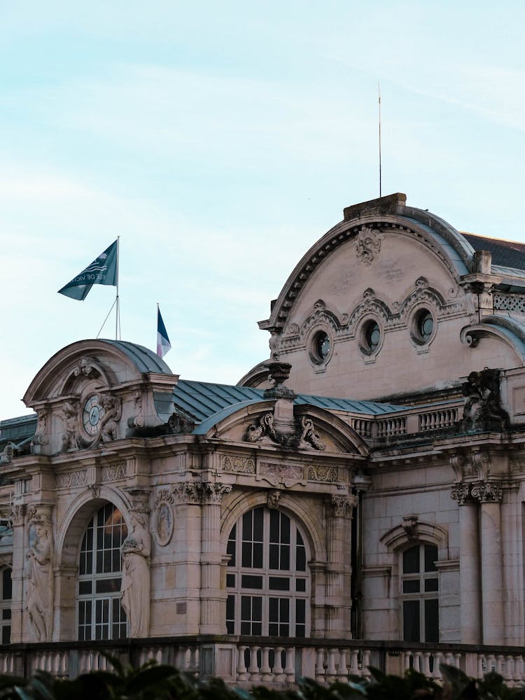
M 500 370 L 470 372 L 461 385 L 465 396 L 461 427 L 465 432 L 507 428 L 509 417 L 501 407 L 499 375 Z

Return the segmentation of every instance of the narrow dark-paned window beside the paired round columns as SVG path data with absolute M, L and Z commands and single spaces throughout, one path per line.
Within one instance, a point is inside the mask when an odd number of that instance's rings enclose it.
M 437 547 L 420 543 L 402 552 L 401 605 L 403 639 L 440 640 Z

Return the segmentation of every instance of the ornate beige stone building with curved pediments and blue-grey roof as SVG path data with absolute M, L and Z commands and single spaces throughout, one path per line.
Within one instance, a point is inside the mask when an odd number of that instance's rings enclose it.
M 305 253 L 237 386 L 58 351 L 0 423 L 3 643 L 215 638 L 230 680 L 290 677 L 279 639 L 523 645 L 524 323 L 525 246 L 396 194 Z

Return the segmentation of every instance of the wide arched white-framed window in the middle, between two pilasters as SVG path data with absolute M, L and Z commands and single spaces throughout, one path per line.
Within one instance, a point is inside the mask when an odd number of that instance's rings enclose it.
M 229 634 L 305 637 L 309 633 L 307 549 L 293 518 L 257 507 L 228 539 Z

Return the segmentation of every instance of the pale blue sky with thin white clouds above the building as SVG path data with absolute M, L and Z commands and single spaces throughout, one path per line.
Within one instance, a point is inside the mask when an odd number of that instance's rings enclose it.
M 349 204 L 405 192 L 525 241 L 521 2 L 0 4 L 0 419 L 113 288 L 57 294 L 120 236 L 123 339 L 235 383 Z M 113 323 L 102 337 L 111 337 Z

